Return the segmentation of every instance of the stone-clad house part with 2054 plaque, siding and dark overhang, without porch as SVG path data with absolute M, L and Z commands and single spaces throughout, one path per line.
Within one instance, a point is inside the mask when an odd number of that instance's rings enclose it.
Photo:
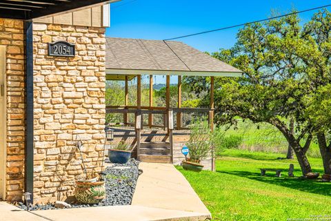
M 0 3 L 2 200 L 22 200 L 24 192 L 34 203 L 72 195 L 81 173 L 77 140 L 86 144 L 89 169 L 101 171 L 110 2 Z M 56 41 L 65 43 L 50 55 Z

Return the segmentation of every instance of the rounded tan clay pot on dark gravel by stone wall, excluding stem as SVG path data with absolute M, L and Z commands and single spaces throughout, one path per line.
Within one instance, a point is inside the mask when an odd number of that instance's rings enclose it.
M 81 204 L 98 204 L 106 198 L 105 182 L 76 181 L 74 196 Z

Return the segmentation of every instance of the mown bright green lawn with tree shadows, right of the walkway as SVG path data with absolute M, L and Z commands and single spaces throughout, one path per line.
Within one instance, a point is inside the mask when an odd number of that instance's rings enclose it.
M 287 220 L 315 215 L 326 215 L 330 220 L 331 183 L 301 180 L 296 160 L 277 157 L 283 155 L 230 149 L 217 160 L 216 173 L 178 169 L 208 207 L 213 220 Z M 288 170 L 290 163 L 294 164 L 294 178 L 288 177 L 287 171 L 281 178 L 274 177 L 274 172 L 260 176 L 260 168 Z M 310 163 L 314 172 L 323 173 L 320 159 L 310 158 Z

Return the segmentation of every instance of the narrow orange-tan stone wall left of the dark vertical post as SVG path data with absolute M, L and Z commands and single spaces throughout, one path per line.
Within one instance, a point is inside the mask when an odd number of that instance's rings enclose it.
M 6 200 L 21 200 L 24 165 L 23 21 L 0 19 L 0 45 L 6 46 Z M 2 151 L 2 148 L 0 148 Z

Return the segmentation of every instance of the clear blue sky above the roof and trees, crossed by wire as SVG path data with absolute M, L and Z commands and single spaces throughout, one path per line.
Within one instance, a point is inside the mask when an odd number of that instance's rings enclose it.
M 265 19 L 270 17 L 272 10 L 284 14 L 292 8 L 305 10 L 330 3 L 330 0 L 123 0 L 112 3 L 110 7 L 111 26 L 107 28 L 106 35 L 161 40 Z M 300 17 L 304 22 L 313 13 L 304 12 Z M 238 30 L 232 28 L 177 41 L 201 51 L 215 52 L 219 48 L 233 46 Z

